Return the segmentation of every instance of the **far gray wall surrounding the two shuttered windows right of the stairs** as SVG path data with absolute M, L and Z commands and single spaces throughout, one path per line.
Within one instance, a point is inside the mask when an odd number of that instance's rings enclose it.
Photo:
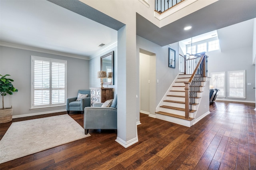
M 208 58 L 209 76 L 213 72 L 226 72 L 225 100 L 255 101 L 255 65 L 252 65 L 252 47 L 243 47 L 221 52 L 220 50 L 206 53 Z M 228 98 L 228 71 L 246 70 L 246 99 Z M 252 83 L 252 85 L 247 85 Z M 223 98 L 222 98 L 223 99 Z

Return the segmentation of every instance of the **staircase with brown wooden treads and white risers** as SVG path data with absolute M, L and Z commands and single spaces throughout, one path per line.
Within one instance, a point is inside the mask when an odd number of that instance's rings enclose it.
M 168 90 L 168 93 L 160 103 L 156 111 L 156 118 L 177 123 L 187 127 L 193 125 L 193 120 L 196 115 L 202 93 L 204 91 L 204 81 L 200 86 L 200 91 L 196 91 L 196 103 L 192 104 L 192 109 L 189 111 L 189 118 L 185 118 L 185 84 L 189 81 L 192 75 L 179 74 L 173 85 Z

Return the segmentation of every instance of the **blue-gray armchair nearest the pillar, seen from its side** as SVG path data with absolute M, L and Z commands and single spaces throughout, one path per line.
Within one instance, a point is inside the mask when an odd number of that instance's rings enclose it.
M 84 133 L 89 129 L 117 129 L 117 95 L 110 107 L 101 107 L 103 103 L 94 103 L 84 108 Z

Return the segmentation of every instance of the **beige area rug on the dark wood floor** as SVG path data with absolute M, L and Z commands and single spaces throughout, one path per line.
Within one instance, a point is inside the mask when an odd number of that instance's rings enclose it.
M 14 122 L 0 141 L 0 163 L 88 136 L 69 115 Z

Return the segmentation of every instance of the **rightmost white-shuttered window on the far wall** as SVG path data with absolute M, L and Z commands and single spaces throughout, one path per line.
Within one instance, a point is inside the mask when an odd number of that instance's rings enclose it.
M 228 97 L 245 99 L 245 70 L 228 71 Z

